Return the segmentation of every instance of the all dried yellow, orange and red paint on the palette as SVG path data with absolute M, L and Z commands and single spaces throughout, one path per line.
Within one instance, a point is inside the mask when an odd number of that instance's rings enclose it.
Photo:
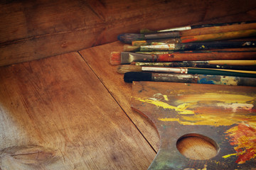
M 215 127 L 233 125 L 233 128 L 225 133 L 235 153 L 224 155 L 223 159 L 236 157 L 237 164 L 244 164 L 256 157 L 256 96 L 252 94 L 224 92 L 220 95 L 174 91 L 173 94 L 170 92 L 168 95 L 158 94 L 151 98 L 134 97 L 134 99 L 159 108 L 158 120 L 162 123 L 178 122 L 181 125 Z M 161 110 L 165 112 L 161 113 Z

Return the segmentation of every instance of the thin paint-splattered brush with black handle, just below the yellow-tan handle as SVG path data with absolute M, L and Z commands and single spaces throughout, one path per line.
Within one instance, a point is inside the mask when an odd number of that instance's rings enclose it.
M 207 68 L 207 69 L 235 69 L 235 70 L 248 70 L 256 71 L 256 65 L 245 66 L 245 65 L 221 65 L 221 64 L 206 64 L 202 62 L 135 62 L 132 63 L 136 66 L 146 66 L 146 67 L 197 67 L 197 68 Z M 156 65 L 157 64 L 157 65 Z M 121 65 L 122 67 L 124 65 Z

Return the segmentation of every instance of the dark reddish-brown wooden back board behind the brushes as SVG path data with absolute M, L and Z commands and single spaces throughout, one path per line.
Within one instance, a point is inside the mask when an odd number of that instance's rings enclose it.
M 256 1 L 1 1 L 0 66 L 102 45 L 120 33 L 256 20 Z

